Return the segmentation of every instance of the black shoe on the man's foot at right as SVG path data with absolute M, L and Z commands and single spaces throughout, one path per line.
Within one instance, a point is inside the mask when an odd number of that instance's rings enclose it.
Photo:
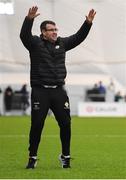
M 70 157 L 59 155 L 59 160 L 61 162 L 62 168 L 70 168 L 70 159 Z

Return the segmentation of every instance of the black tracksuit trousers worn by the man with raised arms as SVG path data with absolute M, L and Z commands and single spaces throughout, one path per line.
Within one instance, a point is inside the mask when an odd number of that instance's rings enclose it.
M 71 117 L 69 98 L 63 87 L 33 87 L 31 93 L 31 130 L 29 155 L 37 156 L 44 122 L 49 108 L 60 127 L 62 154 L 70 155 Z

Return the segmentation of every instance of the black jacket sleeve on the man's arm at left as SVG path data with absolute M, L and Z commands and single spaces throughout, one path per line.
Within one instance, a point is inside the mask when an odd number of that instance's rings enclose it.
M 34 45 L 34 36 L 32 36 L 31 32 L 33 21 L 34 19 L 28 19 L 26 17 L 20 32 L 20 39 L 28 50 L 30 50 Z

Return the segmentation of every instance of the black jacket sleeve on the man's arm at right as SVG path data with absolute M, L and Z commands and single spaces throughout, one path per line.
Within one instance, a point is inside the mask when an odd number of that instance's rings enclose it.
M 85 21 L 77 33 L 69 37 L 62 38 L 65 50 L 69 51 L 84 41 L 90 31 L 91 26 L 92 23 L 89 24 L 87 21 Z

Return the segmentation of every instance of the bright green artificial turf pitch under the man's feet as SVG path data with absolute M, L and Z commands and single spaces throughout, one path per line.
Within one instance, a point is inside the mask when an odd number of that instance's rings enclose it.
M 126 179 L 126 118 L 72 117 L 70 169 L 58 161 L 54 117 L 46 119 L 36 169 L 25 169 L 29 128 L 28 116 L 0 116 L 1 179 Z

